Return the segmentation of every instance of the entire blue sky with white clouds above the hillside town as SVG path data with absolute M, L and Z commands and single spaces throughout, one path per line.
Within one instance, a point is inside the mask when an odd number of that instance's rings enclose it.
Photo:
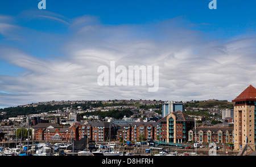
M 232 100 L 256 86 L 255 1 L 0 1 L 0 106 Z M 97 67 L 158 65 L 159 91 L 100 87 Z M 243 63 L 247 66 L 244 67 Z M 104 92 L 104 93 L 102 93 Z

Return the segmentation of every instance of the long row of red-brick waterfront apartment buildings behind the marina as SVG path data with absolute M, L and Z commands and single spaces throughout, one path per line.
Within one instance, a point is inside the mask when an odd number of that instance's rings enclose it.
M 122 140 L 137 142 L 158 140 L 167 143 L 232 143 L 233 127 L 196 127 L 195 119 L 177 111 L 157 122 L 134 122 L 117 125 L 112 122 L 75 123 L 70 127 L 56 123 L 39 123 L 33 127 L 35 140 L 68 141 L 88 137 L 97 142 Z

